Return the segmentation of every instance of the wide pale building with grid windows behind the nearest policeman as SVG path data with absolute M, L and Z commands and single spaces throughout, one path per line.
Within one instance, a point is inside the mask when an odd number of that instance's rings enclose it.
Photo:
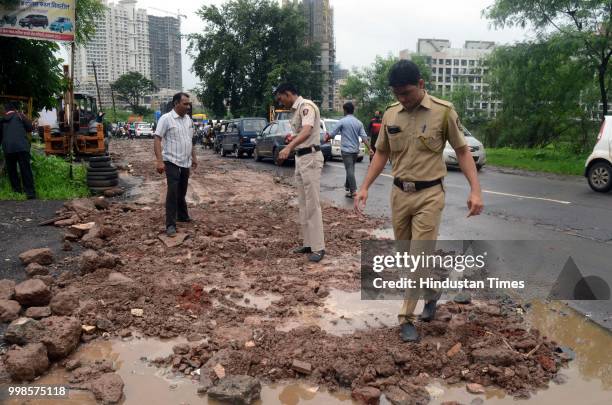
M 431 68 L 431 85 L 441 96 L 448 96 L 458 86 L 469 86 L 478 100 L 471 106 L 488 116 L 494 116 L 501 108 L 501 101 L 494 100 L 486 83 L 488 66 L 486 58 L 495 49 L 495 42 L 466 41 L 463 48 L 451 48 L 447 39 L 419 39 L 416 52 L 400 51 L 400 59 L 410 59 L 417 54 L 425 57 Z

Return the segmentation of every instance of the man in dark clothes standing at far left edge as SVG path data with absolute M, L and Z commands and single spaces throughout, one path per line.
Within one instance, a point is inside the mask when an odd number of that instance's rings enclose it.
M 9 101 L 4 105 L 4 116 L 0 121 L 0 140 L 6 172 L 13 191 L 25 191 L 28 200 L 36 198 L 34 175 L 30 165 L 30 142 L 27 138 L 27 133 L 32 132 L 32 129 L 32 121 L 18 111 L 17 103 Z

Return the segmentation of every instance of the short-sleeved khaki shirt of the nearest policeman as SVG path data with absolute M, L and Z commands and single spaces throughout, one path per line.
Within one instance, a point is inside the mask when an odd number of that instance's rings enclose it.
M 448 101 L 425 94 L 413 111 L 399 103 L 387 109 L 376 150 L 390 153 L 393 177 L 431 181 L 446 176 L 446 141 L 454 149 L 467 145 L 459 116 Z

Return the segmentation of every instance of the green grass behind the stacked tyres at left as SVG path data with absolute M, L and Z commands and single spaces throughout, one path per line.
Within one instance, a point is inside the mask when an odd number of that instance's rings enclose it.
M 36 197 L 41 200 L 68 200 L 89 195 L 87 169 L 83 164 L 73 164 L 70 179 L 70 163 L 57 156 L 45 156 L 32 148 L 32 171 Z M 0 200 L 25 200 L 25 194 L 14 193 L 8 175 L 0 177 Z

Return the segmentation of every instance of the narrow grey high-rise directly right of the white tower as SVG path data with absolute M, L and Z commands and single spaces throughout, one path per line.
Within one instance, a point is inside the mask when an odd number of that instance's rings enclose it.
M 181 90 L 181 21 L 149 16 L 151 80 L 160 89 Z

